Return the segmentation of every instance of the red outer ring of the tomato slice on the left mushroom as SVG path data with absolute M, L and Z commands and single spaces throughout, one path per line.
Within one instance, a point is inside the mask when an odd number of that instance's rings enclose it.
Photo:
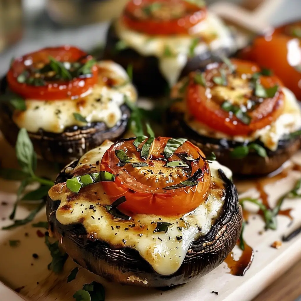
M 87 54 L 79 48 L 71 46 L 44 48 L 26 54 L 23 57 L 15 59 L 8 70 L 7 81 L 9 88 L 25 99 L 60 100 L 80 96 L 97 82 L 98 69 L 96 66 L 92 67 L 92 76 L 83 79 L 74 78 L 70 81 L 46 82 L 45 86 L 27 85 L 26 83 L 19 83 L 17 81 L 18 75 L 26 68 L 24 64 L 26 60 L 31 60 L 33 63 L 48 63 L 49 56 L 54 57 L 58 61 L 75 62 L 82 57 L 86 57 Z

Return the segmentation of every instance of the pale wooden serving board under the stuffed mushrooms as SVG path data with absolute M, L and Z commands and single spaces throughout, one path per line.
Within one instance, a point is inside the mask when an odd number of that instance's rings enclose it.
M 0 139 L 0 159 L 3 167 L 17 166 L 14 150 Z M 301 151 L 292 159 L 293 162 L 301 164 Z M 43 175 L 55 177 L 55 171 L 46 163 L 39 162 Z M 301 177 L 301 172 L 291 170 L 287 167 L 285 173 L 274 178 L 260 180 L 265 191 L 268 193 L 268 200 L 271 206 L 279 196 L 292 189 L 294 183 Z M 254 181 L 237 182 L 238 189 L 246 196 L 257 197 Z M 16 199 L 17 182 L 0 181 L 0 226 L 11 223 L 8 216 Z M 85 283 L 98 281 L 104 285 L 106 290 L 106 301 L 146 301 L 146 300 L 174 300 L 184 299 L 191 301 L 219 301 L 219 300 L 251 300 L 268 284 L 284 273 L 290 265 L 293 265 L 301 258 L 301 236 L 283 243 L 280 249 L 271 247 L 275 240 L 281 240 L 282 235 L 288 234 L 301 224 L 301 199 L 285 200 L 283 209 L 292 208 L 293 222 L 286 216 L 278 216 L 278 229 L 276 231 L 263 231 L 264 222 L 261 216 L 251 215 L 249 224 L 246 225 L 244 238 L 254 250 L 254 260 L 243 277 L 229 274 L 229 268 L 222 263 L 218 268 L 204 276 L 181 287 L 167 291 L 148 289 L 142 287 L 122 286 L 108 282 L 84 268 L 80 268 L 76 279 L 67 283 L 67 276 L 76 267 L 76 264 L 69 258 L 60 275 L 48 271 L 47 265 L 51 262 L 51 256 L 44 241 L 45 237 L 39 237 L 37 231 L 45 233 L 43 228 L 33 228 L 32 223 L 15 228 L 13 230 L 0 231 L 0 281 L 12 289 L 20 290 L 20 297 L 14 295 L 11 290 L 0 286 L 1 300 L 49 300 L 69 301 L 74 300 L 73 294 L 82 288 Z M 20 205 L 17 210 L 17 218 L 23 218 L 29 212 L 30 207 Z M 252 209 L 252 208 L 248 208 Z M 256 208 L 254 208 L 256 209 Z M 256 212 L 256 210 L 255 210 Z M 46 221 L 45 210 L 39 213 L 34 222 Z M 41 233 L 40 233 L 41 235 Z M 9 240 L 20 240 L 20 245 L 11 247 Z M 34 259 L 32 254 L 38 254 Z M 234 259 L 239 258 L 241 251 L 234 248 Z M 22 289 L 20 289 L 23 287 Z M 216 291 L 219 294 L 212 293 Z M 5 298 L 4 298 L 5 296 Z

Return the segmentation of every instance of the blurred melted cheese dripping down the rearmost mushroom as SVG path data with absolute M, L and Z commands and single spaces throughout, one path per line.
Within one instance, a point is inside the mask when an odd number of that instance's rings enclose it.
M 116 32 L 120 40 L 141 55 L 158 57 L 160 71 L 170 86 L 177 82 L 185 67 L 195 38 L 200 37 L 203 40 L 195 47 L 195 55 L 209 49 L 215 51 L 223 47 L 233 48 L 230 31 L 211 13 L 208 13 L 206 20 L 192 27 L 191 35 L 187 36 L 149 36 L 127 28 L 121 21 L 116 23 Z M 166 48 L 170 50 L 171 56 L 164 55 Z

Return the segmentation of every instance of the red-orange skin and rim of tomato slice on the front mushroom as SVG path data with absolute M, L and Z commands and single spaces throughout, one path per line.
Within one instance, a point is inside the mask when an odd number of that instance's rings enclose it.
M 148 163 L 152 161 L 155 165 L 157 165 L 162 162 L 161 159 L 163 156 L 158 156 L 158 154 L 162 153 L 168 139 L 169 138 L 163 137 L 155 139 L 151 152 L 152 159 L 146 160 Z M 113 144 L 112 147 L 106 151 L 101 160 L 101 170 L 108 171 L 116 175 L 114 182 L 102 182 L 106 194 L 112 199 L 112 202 L 119 197 L 126 197 L 126 201 L 120 204 L 118 209 L 130 214 L 137 213 L 175 216 L 191 212 L 197 208 L 200 203 L 206 200 L 206 195 L 210 186 L 210 169 L 208 163 L 202 159 L 204 154 L 198 147 L 194 146 L 191 142 L 186 141 L 177 149 L 175 154 L 188 151 L 191 156 L 197 156 L 200 158 L 199 162 L 193 162 L 191 173 L 193 174 L 197 169 L 202 169 L 204 173 L 200 182 L 193 187 L 165 190 L 163 187 L 156 188 L 154 186 L 155 182 L 152 179 L 147 179 L 146 177 L 138 179 L 138 170 L 129 169 L 129 174 L 128 172 L 123 172 L 123 167 L 116 167 L 116 162 L 118 161 L 114 158 L 115 150 L 127 149 L 133 151 L 132 143 L 134 140 L 135 139 L 129 139 L 121 144 Z M 141 144 L 141 147 L 144 143 Z M 131 154 L 133 153 L 134 151 Z M 136 151 L 136 153 L 140 158 L 140 152 Z M 137 160 L 138 157 L 135 157 L 135 159 Z M 157 158 L 159 161 L 154 158 Z M 144 159 L 140 160 L 145 162 Z M 166 161 L 164 163 L 166 163 Z M 151 169 L 151 165 L 147 168 Z M 165 184 L 164 186 L 166 187 L 168 184 Z M 149 189 L 150 192 L 145 192 L 145 189 Z

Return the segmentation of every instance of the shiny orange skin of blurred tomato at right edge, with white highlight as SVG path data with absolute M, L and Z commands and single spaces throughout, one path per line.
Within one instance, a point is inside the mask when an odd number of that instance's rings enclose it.
M 251 46 L 240 52 L 239 57 L 271 69 L 301 100 L 301 72 L 294 67 L 301 66 L 300 39 L 276 34 L 270 37 L 259 36 Z

